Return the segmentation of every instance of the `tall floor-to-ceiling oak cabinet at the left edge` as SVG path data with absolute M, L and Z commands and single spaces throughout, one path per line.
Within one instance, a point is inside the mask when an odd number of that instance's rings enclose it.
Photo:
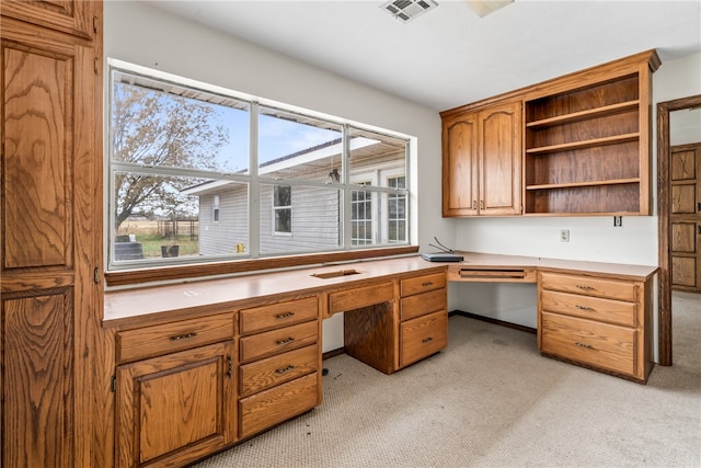
M 90 466 L 102 3 L 0 4 L 0 465 Z

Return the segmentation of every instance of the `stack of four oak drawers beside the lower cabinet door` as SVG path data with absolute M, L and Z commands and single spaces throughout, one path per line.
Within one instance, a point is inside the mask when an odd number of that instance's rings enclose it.
M 317 296 L 239 312 L 239 436 L 245 438 L 321 402 Z

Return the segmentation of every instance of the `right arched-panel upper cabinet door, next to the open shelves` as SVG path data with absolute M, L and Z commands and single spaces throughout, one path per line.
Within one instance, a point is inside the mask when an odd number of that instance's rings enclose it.
M 521 103 L 480 113 L 481 215 L 519 215 L 521 206 Z

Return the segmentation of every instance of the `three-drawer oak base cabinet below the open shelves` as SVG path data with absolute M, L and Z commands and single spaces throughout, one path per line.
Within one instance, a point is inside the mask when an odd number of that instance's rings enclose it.
M 652 370 L 651 282 L 539 273 L 542 354 L 637 381 Z

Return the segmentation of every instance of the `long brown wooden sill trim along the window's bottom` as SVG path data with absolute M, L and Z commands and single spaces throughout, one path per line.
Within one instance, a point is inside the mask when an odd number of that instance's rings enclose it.
M 417 253 L 418 246 L 391 247 L 346 252 L 313 253 L 308 255 L 272 256 L 266 259 L 237 260 L 221 263 L 175 265 L 160 269 L 125 270 L 105 273 L 107 286 L 127 286 L 151 282 L 188 279 L 235 273 L 262 272 L 265 270 L 307 266 L 320 263 L 378 259 L 381 256 Z

